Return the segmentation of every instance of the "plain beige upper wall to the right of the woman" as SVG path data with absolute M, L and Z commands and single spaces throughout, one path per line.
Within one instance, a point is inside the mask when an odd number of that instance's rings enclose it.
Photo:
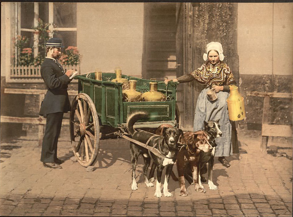
M 240 74 L 292 75 L 293 3 L 238 3 Z

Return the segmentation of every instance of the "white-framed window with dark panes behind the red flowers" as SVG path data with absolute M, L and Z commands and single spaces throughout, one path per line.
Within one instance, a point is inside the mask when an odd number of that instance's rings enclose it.
M 34 58 L 39 52 L 40 37 L 34 30 L 40 18 L 49 25 L 49 37 L 62 39 L 63 49 L 76 46 L 76 3 L 70 2 L 20 2 L 16 3 L 15 35 L 25 36 L 28 39 L 27 47 L 33 48 Z M 15 48 L 16 49 L 16 48 Z M 64 51 L 64 50 L 62 50 Z M 20 54 L 15 51 L 15 58 Z

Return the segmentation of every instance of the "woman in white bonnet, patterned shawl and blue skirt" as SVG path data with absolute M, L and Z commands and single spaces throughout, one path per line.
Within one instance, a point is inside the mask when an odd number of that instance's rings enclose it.
M 197 81 L 205 84 L 206 87 L 198 96 L 195 108 L 193 130 L 198 131 L 204 128 L 204 121 L 220 119 L 219 124 L 223 133 L 222 137 L 216 139 L 217 147 L 215 156 L 225 166 L 230 167 L 230 163 L 225 157 L 233 153 L 231 135 L 232 125 L 228 116 L 227 98 L 229 96 L 229 85 L 236 85 L 234 76 L 224 59 L 222 45 L 219 42 L 211 42 L 207 45 L 206 54 L 203 55 L 206 63 L 195 71 L 175 78 L 172 81 L 185 83 Z M 207 61 L 208 60 L 208 61 Z M 170 80 L 165 80 L 168 83 Z M 213 89 L 217 94 L 217 100 L 210 101 L 207 91 Z

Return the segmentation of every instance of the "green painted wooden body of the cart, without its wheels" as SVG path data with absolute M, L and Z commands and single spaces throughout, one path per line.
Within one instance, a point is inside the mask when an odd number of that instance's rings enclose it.
M 170 83 L 166 91 L 165 83 L 157 81 L 158 91 L 167 94 L 167 101 L 165 102 L 123 102 L 122 83 L 110 82 L 115 77 L 114 73 L 102 73 L 102 81 L 94 80 L 94 73 L 75 77 L 79 80 L 79 93 L 86 93 L 92 98 L 101 124 L 118 127 L 126 122 L 129 114 L 137 111 L 150 113 L 149 117 L 140 121 L 175 120 L 177 83 Z M 142 93 L 149 91 L 149 82 L 152 80 L 127 75 L 122 75 L 122 77 L 127 80 L 137 80 L 137 91 Z

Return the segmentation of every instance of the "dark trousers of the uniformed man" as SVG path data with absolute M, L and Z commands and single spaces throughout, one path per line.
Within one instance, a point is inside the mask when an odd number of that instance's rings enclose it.
M 42 143 L 41 161 L 53 163 L 57 158 L 57 143 L 60 135 L 63 112 L 47 114 L 46 129 Z

